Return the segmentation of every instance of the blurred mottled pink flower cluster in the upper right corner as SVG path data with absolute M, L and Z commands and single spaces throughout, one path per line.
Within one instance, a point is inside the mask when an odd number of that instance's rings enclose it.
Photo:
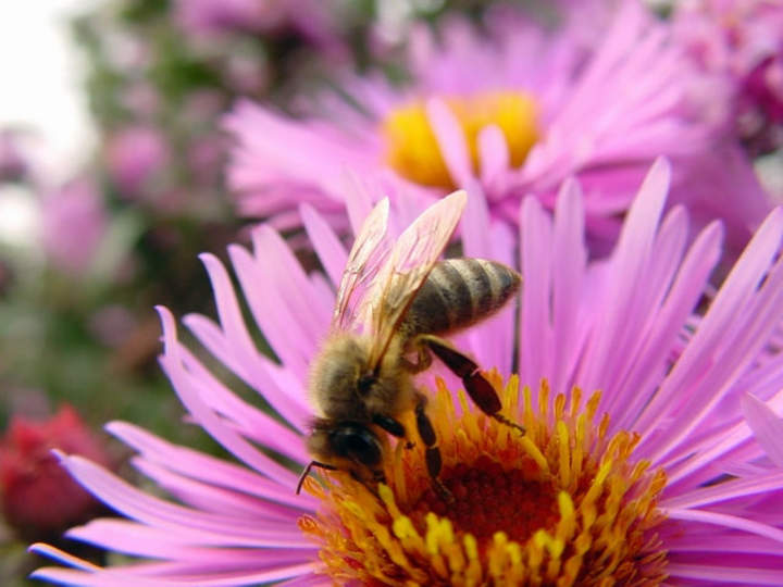
M 731 96 L 730 121 L 751 155 L 783 146 L 783 3 L 676 2 L 675 38 Z

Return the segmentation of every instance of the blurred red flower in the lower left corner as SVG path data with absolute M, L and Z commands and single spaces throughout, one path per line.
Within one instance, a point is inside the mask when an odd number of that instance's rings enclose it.
M 0 499 L 5 522 L 27 540 L 57 539 L 103 512 L 101 503 L 60 466 L 53 448 L 111 467 L 104 442 L 64 405 L 46 421 L 11 420 L 0 439 Z

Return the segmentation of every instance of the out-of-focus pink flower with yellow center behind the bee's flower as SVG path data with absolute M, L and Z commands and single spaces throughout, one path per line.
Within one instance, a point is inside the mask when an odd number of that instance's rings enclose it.
M 237 103 L 225 126 L 237 140 L 228 178 L 240 212 L 289 228 L 308 202 L 340 229 L 347 166 L 423 201 L 456 187 L 482 192 L 493 217 L 515 225 L 525 196 L 552 209 L 576 175 L 588 234 L 611 241 L 645 171 L 667 155 L 671 200 L 698 221 L 722 217 L 730 242 L 746 242 L 769 203 L 744 155 L 721 142 L 723 95 L 704 91 L 664 23 L 623 2 L 586 51 L 583 23 L 548 35 L 501 15 L 488 38 L 462 21 L 445 24 L 442 42 L 415 30 L 411 85 L 345 80 L 360 111 L 334 97 L 296 118 Z M 709 189 L 693 189 L 703 182 Z

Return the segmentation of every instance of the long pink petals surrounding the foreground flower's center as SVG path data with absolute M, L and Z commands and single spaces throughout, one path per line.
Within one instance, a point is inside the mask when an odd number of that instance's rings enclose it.
M 773 412 L 783 410 L 783 353 L 769 348 L 783 319 L 783 209 L 767 217 L 696 320 L 692 313 L 720 259 L 723 229 L 711 223 L 688 245 L 685 210 L 675 205 L 663 213 L 669 186 L 669 166 L 658 162 L 604 261 L 588 260 L 586 198 L 575 182 L 560 189 L 554 215 L 539 200 L 525 199 L 519 340 L 506 313 L 462 335 L 458 345 L 505 375 L 518 352 L 522 383 L 535 387 L 548 379 L 548 410 L 556 394 L 568 398 L 575 385 L 602 390 L 597 414 L 608 414 L 608 434 L 637 434 L 634 458 L 666 472 L 655 528 L 660 544 L 650 537 L 648 546 L 666 557 L 667 584 L 782 584 L 783 519 L 775 512 L 783 470 L 770 467 L 762 449 L 779 439 L 765 426 L 755 424 L 751 432 L 739 402 L 751 397 Z M 345 193 L 356 229 L 369 202 L 361 192 Z M 327 332 L 347 255 L 312 207 L 301 213 L 325 276 L 306 273 L 282 237 L 261 225 L 252 235 L 253 252 L 238 246 L 228 251 L 256 324 L 246 324 L 232 278 L 211 254 L 202 260 L 220 321 L 184 320 L 279 419 L 234 395 L 178 340 L 173 316 L 162 309 L 161 364 L 189 419 L 238 462 L 174 446 L 132 424 L 109 424 L 139 451 L 136 467 L 174 501 L 134 488 L 86 459 L 63 455 L 85 487 L 128 517 L 94 521 L 69 536 L 144 560 L 102 569 L 36 545 L 34 551 L 71 566 L 41 569 L 36 578 L 75 585 L 332 583 L 319 574 L 325 561 L 318 545 L 297 525 L 319 501 L 295 496 L 297 472 L 269 457 L 277 453 L 296 467 L 309 461 L 302 442 L 312 415 L 308 366 Z M 495 237 L 505 234 L 498 226 L 487 202 L 473 196 L 462 218 L 465 254 L 495 258 L 496 250 L 508 250 L 496 249 Z M 279 362 L 257 348 L 257 326 Z M 432 386 L 433 374 L 421 383 Z M 394 539 L 390 529 L 387 535 Z M 350 573 L 361 561 L 347 563 Z

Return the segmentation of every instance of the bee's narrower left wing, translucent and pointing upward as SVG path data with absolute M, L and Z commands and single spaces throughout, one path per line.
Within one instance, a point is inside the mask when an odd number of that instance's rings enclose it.
M 357 315 L 359 289 L 361 286 L 368 286 L 386 260 L 388 247 L 381 247 L 381 243 L 386 236 L 388 210 L 388 198 L 384 198 L 370 211 L 353 240 L 337 289 L 337 301 L 332 316 L 333 328 L 345 330 L 351 325 Z

